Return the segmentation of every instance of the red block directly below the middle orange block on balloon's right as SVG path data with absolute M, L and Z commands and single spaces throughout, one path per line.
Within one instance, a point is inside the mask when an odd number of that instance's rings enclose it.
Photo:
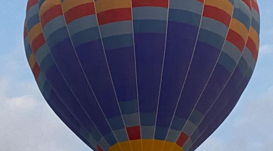
M 241 35 L 236 33 L 234 30 L 229 29 L 227 33 L 227 40 L 233 43 L 241 52 L 243 52 L 245 41 Z

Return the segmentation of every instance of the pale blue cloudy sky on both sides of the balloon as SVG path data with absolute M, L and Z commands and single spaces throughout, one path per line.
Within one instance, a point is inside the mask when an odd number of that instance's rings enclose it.
M 24 54 L 27 0 L 0 5 L 0 150 L 90 151 L 42 98 Z M 273 150 L 272 0 L 258 0 L 260 53 L 239 103 L 198 151 Z

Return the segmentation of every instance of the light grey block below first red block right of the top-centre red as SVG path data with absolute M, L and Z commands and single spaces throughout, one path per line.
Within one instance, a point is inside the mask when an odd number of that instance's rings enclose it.
M 217 28 L 215 28 L 215 27 L 217 27 Z M 213 33 L 216 33 L 223 38 L 226 38 L 226 36 L 227 36 L 228 27 L 226 25 L 224 25 L 223 23 L 221 23 L 217 20 L 211 19 L 211 18 L 203 17 L 202 23 L 201 23 L 201 28 L 211 31 Z

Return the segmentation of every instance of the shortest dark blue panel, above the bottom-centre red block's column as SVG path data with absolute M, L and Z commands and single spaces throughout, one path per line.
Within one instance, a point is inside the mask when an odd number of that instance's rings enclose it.
M 136 99 L 134 48 L 126 47 L 105 52 L 119 101 Z

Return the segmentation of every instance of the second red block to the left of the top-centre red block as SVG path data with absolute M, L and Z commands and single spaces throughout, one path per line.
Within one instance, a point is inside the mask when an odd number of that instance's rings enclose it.
M 69 9 L 65 14 L 66 23 L 82 18 L 84 16 L 95 14 L 94 3 L 85 3 Z

